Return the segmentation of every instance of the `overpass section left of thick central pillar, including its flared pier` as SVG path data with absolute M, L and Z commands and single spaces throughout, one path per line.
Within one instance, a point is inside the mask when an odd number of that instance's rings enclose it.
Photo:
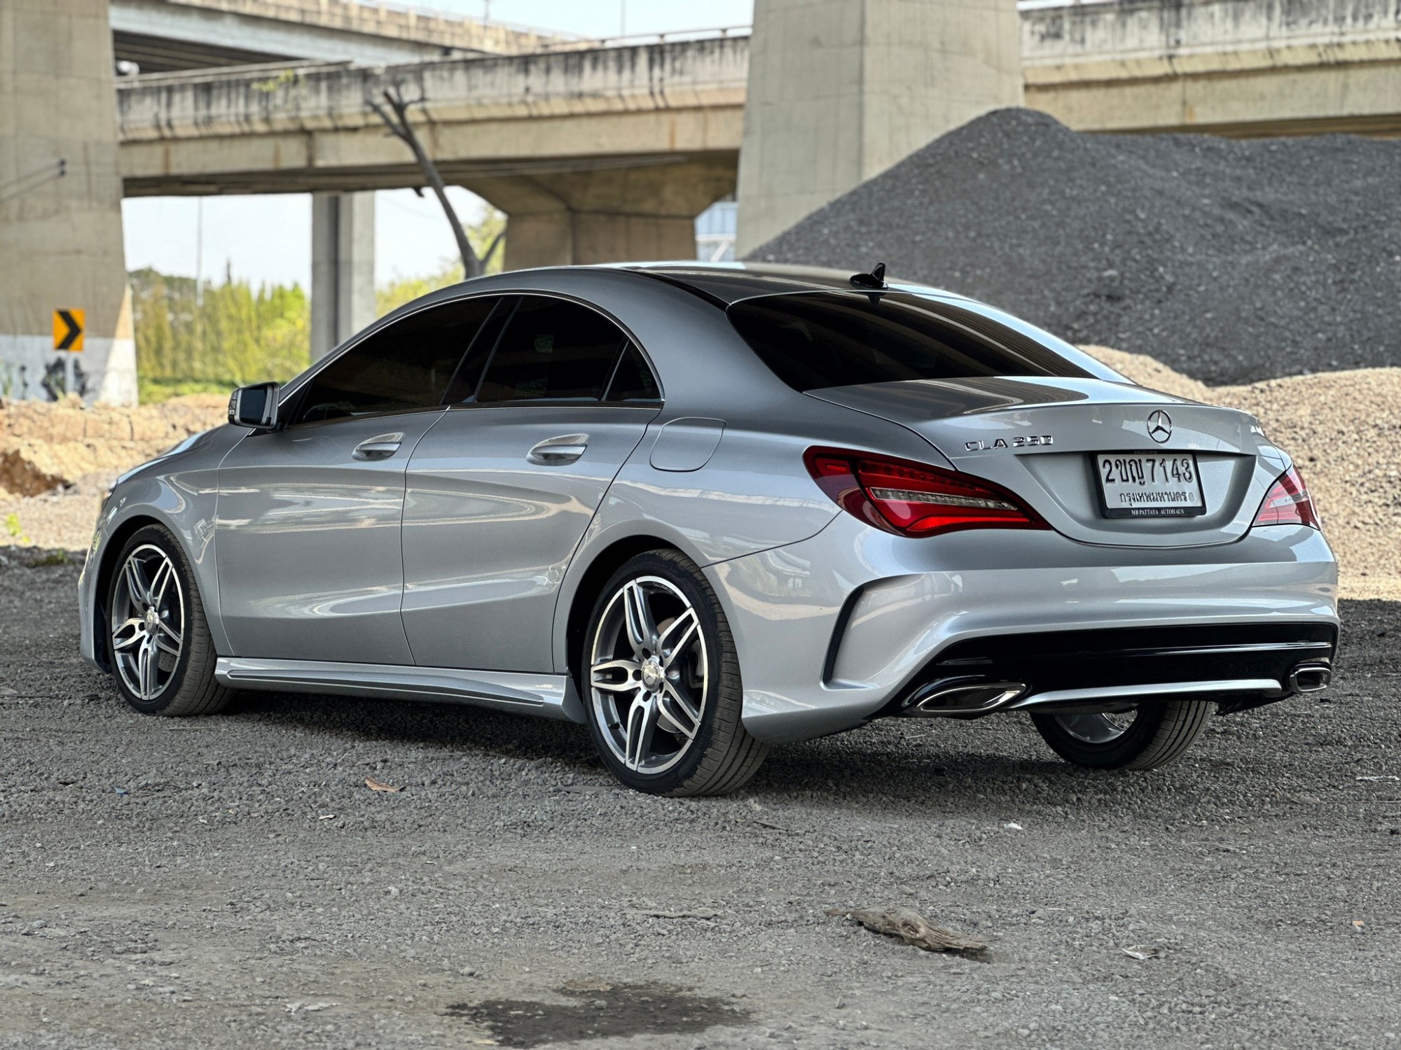
M 734 190 L 747 41 L 370 69 L 137 77 L 118 90 L 127 196 L 373 190 L 423 179 L 366 105 L 401 84 L 447 181 L 510 216 L 510 266 L 695 252 Z

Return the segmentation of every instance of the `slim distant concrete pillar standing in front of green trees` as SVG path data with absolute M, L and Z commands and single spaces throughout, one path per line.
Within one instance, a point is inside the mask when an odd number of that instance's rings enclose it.
M 374 193 L 312 193 L 311 360 L 374 318 Z

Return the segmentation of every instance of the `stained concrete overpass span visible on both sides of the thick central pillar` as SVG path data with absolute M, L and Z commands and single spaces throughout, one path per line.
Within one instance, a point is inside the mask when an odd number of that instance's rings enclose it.
M 1021 53 L 1027 104 L 1080 130 L 1401 134 L 1395 0 L 1024 6 Z M 507 211 L 567 203 L 576 175 L 733 165 L 747 77 L 744 38 L 140 76 L 118 87 L 120 172 L 130 196 L 417 185 L 364 104 L 402 83 L 451 179 Z

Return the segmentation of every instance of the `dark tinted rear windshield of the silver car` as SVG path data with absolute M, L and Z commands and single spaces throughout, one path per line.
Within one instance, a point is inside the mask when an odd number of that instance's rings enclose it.
M 982 375 L 1089 377 L 1034 339 L 918 295 L 818 291 L 729 308 L 730 323 L 799 391 Z

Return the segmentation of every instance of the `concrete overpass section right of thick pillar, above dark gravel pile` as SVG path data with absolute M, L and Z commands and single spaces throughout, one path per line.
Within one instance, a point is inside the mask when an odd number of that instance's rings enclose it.
M 1028 106 L 1087 132 L 1401 134 L 1395 0 L 1023 4 Z

